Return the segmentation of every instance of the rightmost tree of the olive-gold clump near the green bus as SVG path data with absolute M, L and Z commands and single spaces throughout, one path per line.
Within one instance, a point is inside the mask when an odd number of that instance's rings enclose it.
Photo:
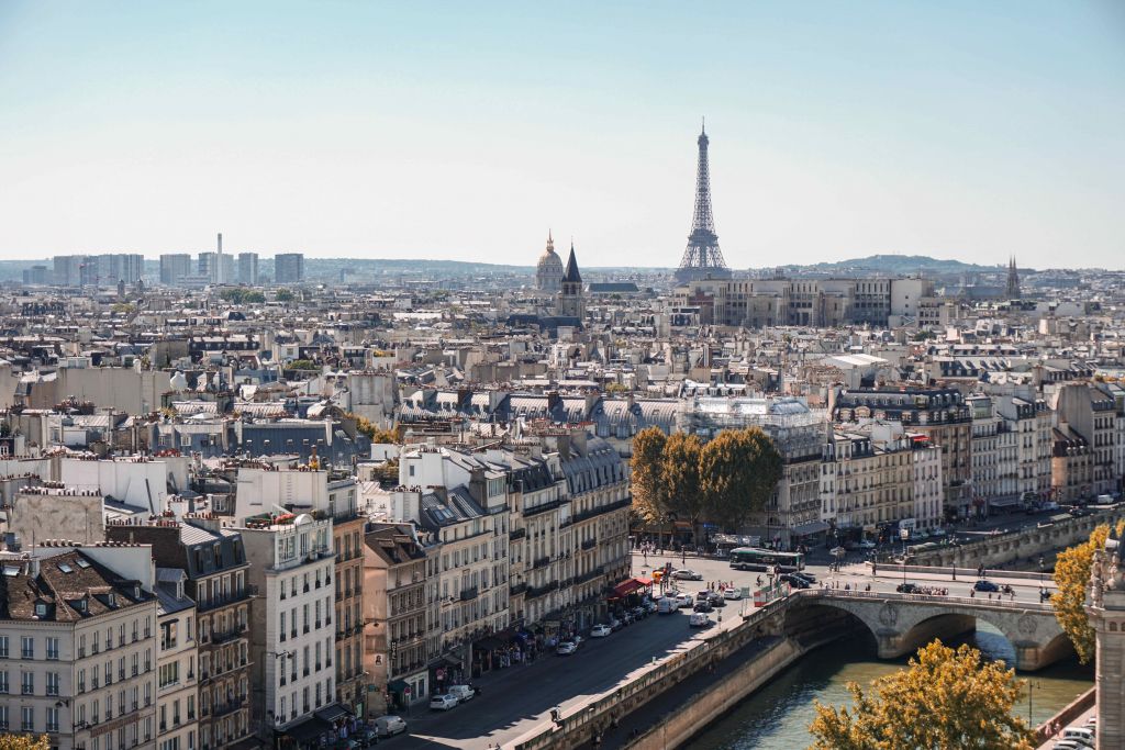
M 736 532 L 750 513 L 766 506 L 781 477 L 781 453 L 760 428 L 724 430 L 700 455 L 704 513 Z

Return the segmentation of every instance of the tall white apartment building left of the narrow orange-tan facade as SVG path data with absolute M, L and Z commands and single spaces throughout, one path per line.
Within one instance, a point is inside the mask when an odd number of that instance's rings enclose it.
M 332 516 L 273 512 L 243 519 L 251 613 L 253 717 L 266 741 L 309 742 L 349 715 L 336 702 Z

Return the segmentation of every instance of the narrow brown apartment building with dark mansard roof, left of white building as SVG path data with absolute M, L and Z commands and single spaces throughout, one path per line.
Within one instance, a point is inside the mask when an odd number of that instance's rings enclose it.
M 159 568 L 184 573 L 184 594 L 196 603 L 197 747 L 217 750 L 251 742 L 248 629 L 254 589 L 242 535 L 209 514 L 184 514 L 179 522 L 164 517 L 147 524 L 111 524 L 106 535 L 111 541 L 151 544 Z

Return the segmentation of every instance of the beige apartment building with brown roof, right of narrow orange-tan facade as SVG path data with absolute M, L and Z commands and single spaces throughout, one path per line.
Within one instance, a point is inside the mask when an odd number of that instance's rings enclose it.
M 408 711 L 430 696 L 426 553 L 407 524 L 374 524 L 364 535 L 364 667 L 374 692 L 368 717 Z

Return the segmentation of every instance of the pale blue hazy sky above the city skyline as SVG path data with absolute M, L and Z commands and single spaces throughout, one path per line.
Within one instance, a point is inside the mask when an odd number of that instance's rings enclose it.
M 1125 2 L 0 0 L 0 259 L 1125 268 Z

